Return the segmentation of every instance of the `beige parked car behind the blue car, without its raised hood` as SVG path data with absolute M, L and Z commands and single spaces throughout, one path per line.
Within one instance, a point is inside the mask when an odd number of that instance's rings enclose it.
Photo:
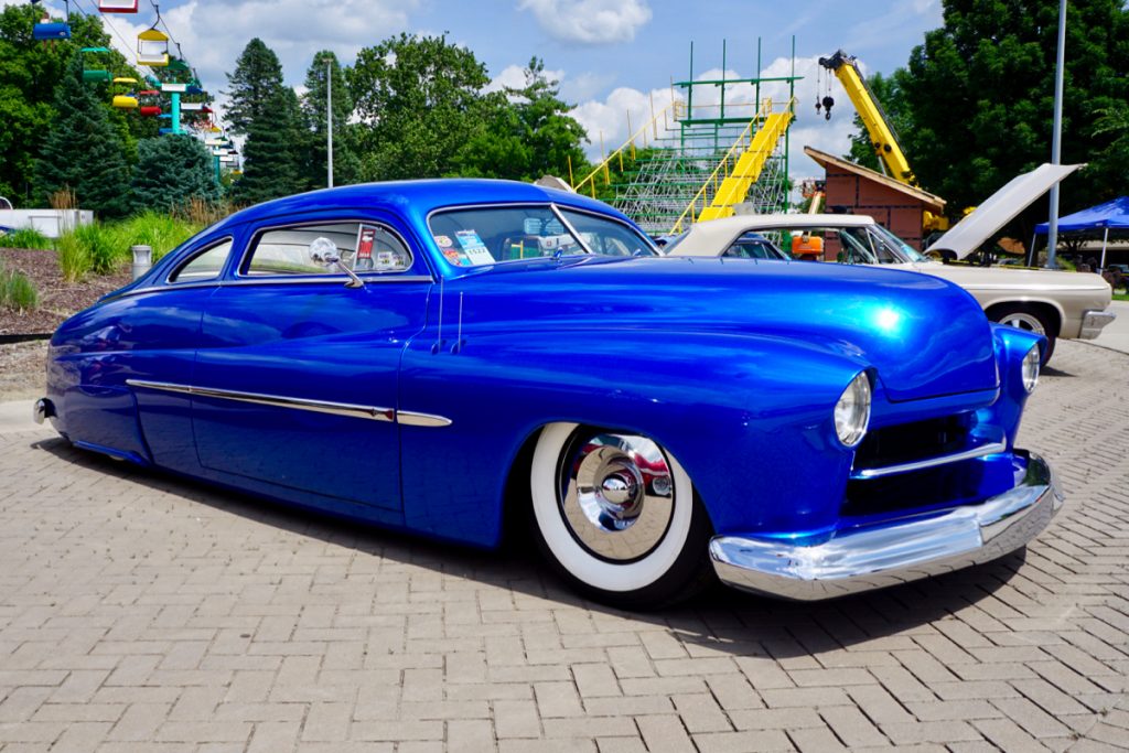
M 742 238 L 756 233 L 776 240 L 779 259 L 790 240 L 811 234 L 828 242 L 828 253 L 844 264 L 869 264 L 924 272 L 955 282 L 972 294 L 988 318 L 1047 338 L 1044 362 L 1059 338 L 1096 338 L 1113 321 L 1106 310 L 1110 284 L 1096 274 L 1051 270 L 1009 270 L 943 264 L 926 257 L 865 214 L 745 214 L 699 222 L 663 249 L 674 256 L 742 256 Z M 830 251 L 835 248 L 835 251 Z M 947 324 L 938 313 L 935 322 Z

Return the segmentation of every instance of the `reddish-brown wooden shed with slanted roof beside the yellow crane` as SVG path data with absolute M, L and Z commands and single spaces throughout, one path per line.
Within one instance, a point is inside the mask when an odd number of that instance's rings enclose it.
M 869 214 L 919 251 L 925 212 L 945 213 L 945 200 L 928 191 L 899 183 L 882 173 L 819 149 L 804 147 L 804 154 L 826 172 L 824 211 Z

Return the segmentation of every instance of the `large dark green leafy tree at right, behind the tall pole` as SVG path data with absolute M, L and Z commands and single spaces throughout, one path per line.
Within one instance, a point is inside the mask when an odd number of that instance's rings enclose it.
M 944 26 L 926 34 L 899 80 L 913 126 L 902 133 L 922 186 L 948 207 L 982 201 L 1050 160 L 1058 36 L 1056 0 L 946 0 Z M 1074 211 L 1124 193 L 1129 154 L 1106 151 L 1102 111 L 1129 99 L 1129 11 L 1120 0 L 1071 0 L 1067 12 L 1062 161 L 1089 163 L 1062 183 Z M 1047 218 L 1042 202 L 1024 230 Z

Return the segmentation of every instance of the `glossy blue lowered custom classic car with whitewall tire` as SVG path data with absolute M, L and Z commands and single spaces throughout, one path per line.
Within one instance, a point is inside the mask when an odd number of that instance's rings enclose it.
M 1045 527 L 1061 496 L 1014 444 L 1043 343 L 922 274 L 655 257 L 575 194 L 387 183 L 186 242 L 59 329 L 36 413 L 78 447 L 437 539 L 493 546 L 530 514 L 619 605 L 715 572 L 815 599 Z

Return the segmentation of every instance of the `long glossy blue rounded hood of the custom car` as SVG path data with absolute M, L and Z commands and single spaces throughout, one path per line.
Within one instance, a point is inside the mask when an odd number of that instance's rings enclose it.
M 988 321 L 938 278 L 804 262 L 657 257 L 498 265 L 463 278 L 467 323 L 777 336 L 873 366 L 891 400 L 997 385 Z M 515 289 L 516 288 L 516 289 Z M 497 296 L 497 303 L 485 298 Z

